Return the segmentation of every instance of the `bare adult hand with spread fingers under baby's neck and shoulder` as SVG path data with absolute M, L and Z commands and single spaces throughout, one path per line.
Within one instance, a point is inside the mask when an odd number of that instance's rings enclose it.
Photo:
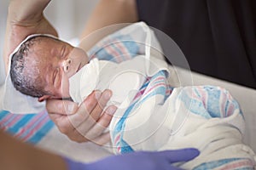
M 94 91 L 80 106 L 68 100 L 49 99 L 46 108 L 49 117 L 69 139 L 76 142 L 90 140 L 96 144 L 105 144 L 110 137 L 109 133 L 103 132 L 116 111 L 113 105 L 103 111 L 111 95 L 109 90 L 102 93 Z

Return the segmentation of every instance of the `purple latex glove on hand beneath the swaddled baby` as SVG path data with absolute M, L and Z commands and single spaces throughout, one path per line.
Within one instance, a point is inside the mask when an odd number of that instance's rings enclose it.
M 109 156 L 93 163 L 74 162 L 67 158 L 68 170 L 176 170 L 172 163 L 189 161 L 199 155 L 196 149 L 165 150 L 160 152 L 138 151 L 119 156 Z

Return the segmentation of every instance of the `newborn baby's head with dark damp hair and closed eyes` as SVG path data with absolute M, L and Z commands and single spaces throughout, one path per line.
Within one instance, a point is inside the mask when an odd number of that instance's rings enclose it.
M 29 38 L 13 54 L 10 77 L 20 93 L 39 101 L 69 98 L 68 79 L 87 63 L 81 48 L 42 35 Z

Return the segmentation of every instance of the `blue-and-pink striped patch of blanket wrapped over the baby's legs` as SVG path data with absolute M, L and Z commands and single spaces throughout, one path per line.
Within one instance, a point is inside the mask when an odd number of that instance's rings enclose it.
M 230 116 L 236 109 L 242 115 L 239 104 L 224 88 L 196 86 L 188 91 L 185 89 L 178 95 L 178 99 L 183 102 L 189 111 L 196 115 L 203 116 L 207 119 L 212 117 L 226 117 Z

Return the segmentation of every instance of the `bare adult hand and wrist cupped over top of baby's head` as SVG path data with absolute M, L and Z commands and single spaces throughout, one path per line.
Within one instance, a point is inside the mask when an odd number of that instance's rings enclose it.
M 27 36 L 36 33 L 52 34 L 57 37 L 55 28 L 44 18 L 44 8 L 50 0 L 12 0 L 6 23 L 3 48 L 5 71 L 8 72 L 9 54 Z

